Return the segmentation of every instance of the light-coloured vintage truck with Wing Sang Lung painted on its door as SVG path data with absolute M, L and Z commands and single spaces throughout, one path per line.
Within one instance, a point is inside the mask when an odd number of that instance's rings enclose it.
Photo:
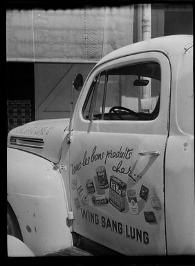
M 195 254 L 193 37 L 125 46 L 82 80 L 71 120 L 8 134 L 8 234 L 36 256 L 75 236 L 124 255 Z

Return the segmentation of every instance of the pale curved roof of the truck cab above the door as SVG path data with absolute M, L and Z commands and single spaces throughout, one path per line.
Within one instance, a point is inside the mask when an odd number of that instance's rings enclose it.
M 151 50 L 161 50 L 166 53 L 167 56 L 178 55 L 185 52 L 185 50 L 191 46 L 193 46 L 193 35 L 170 35 L 157 37 L 147 41 L 139 41 L 134 44 L 129 44 L 114 50 L 108 55 L 102 57 L 95 67 L 99 66 L 100 64 L 104 64 L 106 61 L 111 61 L 119 57 L 148 52 Z

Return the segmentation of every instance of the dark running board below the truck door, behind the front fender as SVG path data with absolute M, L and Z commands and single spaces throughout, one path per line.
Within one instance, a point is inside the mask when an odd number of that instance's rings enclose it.
M 93 254 L 73 246 L 57 252 L 50 252 L 44 256 L 93 256 Z

